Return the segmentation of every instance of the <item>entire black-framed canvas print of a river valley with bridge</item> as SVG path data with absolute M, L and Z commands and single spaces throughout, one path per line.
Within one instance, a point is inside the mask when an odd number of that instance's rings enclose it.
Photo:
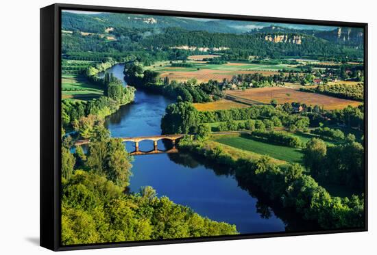
M 40 245 L 367 230 L 367 24 L 40 9 Z

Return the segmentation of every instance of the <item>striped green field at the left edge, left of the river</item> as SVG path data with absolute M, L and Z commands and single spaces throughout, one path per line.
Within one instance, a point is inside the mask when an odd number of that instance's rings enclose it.
M 90 83 L 83 75 L 62 75 L 62 98 L 90 100 L 103 94 L 101 88 Z

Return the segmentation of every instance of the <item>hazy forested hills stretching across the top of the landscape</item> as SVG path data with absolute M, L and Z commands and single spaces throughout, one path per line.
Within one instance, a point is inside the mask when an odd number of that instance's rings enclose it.
M 250 55 L 274 58 L 332 56 L 357 59 L 363 57 L 361 44 L 363 36 L 358 36 L 361 31 L 357 29 L 350 32 L 347 38 L 349 44 L 339 44 L 338 40 L 333 40 L 332 30 L 309 33 L 310 30 L 307 29 L 274 29 L 273 36 L 289 38 L 287 43 L 276 43 L 267 40 L 267 37 L 271 36 L 271 29 L 239 33 L 234 26 L 224 27 L 219 25 L 221 22 L 215 21 L 185 22 L 182 18 L 158 16 L 158 21 L 155 23 L 154 18 L 145 16 L 77 15 L 69 12 L 64 12 L 62 19 L 62 29 L 66 31 L 62 33 L 62 53 L 68 56 L 82 51 L 123 53 L 121 54 L 123 56 L 127 55 L 125 53 L 143 51 L 149 55 L 159 55 L 156 56 L 156 60 L 179 59 L 177 54 L 184 51 L 174 49 L 174 47 L 186 45 L 197 48 L 217 48 L 221 53 L 228 55 L 228 59 L 247 59 Z M 293 38 L 300 38 L 300 40 L 293 40 Z

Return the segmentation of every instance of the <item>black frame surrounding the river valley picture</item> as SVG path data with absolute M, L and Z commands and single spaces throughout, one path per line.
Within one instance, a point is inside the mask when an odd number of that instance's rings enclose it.
M 218 18 L 237 21 L 260 21 L 276 23 L 300 23 L 303 25 L 333 25 L 339 27 L 358 27 L 364 30 L 365 64 L 365 228 L 344 230 L 321 230 L 314 232 L 276 232 L 268 234 L 239 234 L 236 236 L 198 237 L 151 241 L 127 241 L 119 243 L 97 243 L 91 245 L 60 245 L 60 88 L 61 88 L 61 10 L 83 10 L 94 12 L 125 12 L 128 14 L 153 14 L 163 16 L 185 16 L 191 18 Z M 49 250 L 84 250 L 105 247 L 127 247 L 135 245 L 160 245 L 170 243 L 193 243 L 202 241 L 224 241 L 234 239 L 254 239 L 265 237 L 287 237 L 308 234 L 330 234 L 341 232 L 367 231 L 367 124 L 368 124 L 368 25 L 339 21 L 315 21 L 297 18 L 273 18 L 235 14 L 213 14 L 202 12 L 181 12 L 168 10 L 147 10 L 118 8 L 94 5 L 73 5 L 56 3 L 40 9 L 40 246 Z

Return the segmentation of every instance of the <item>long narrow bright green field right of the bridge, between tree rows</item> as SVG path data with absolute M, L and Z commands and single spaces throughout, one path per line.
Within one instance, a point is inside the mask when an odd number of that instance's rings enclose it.
M 256 152 L 260 155 L 268 155 L 274 159 L 290 163 L 301 163 L 302 161 L 302 152 L 298 148 L 267 144 L 265 142 L 259 142 L 256 139 L 240 136 L 221 136 L 215 138 L 215 141 L 241 150 Z

